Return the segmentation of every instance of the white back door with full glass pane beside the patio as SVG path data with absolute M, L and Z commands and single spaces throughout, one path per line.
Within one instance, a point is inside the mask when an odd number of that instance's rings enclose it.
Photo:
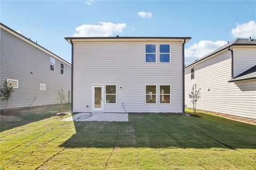
M 93 85 L 92 93 L 92 102 L 93 107 L 92 111 L 103 112 L 103 86 L 102 85 Z

